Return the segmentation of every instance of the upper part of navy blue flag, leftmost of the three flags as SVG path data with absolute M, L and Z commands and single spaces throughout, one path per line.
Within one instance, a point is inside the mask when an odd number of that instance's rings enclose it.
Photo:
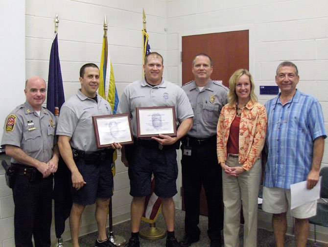
M 49 59 L 49 74 L 47 88 L 47 109 L 51 111 L 56 118 L 59 116 L 59 110 L 65 102 L 63 78 L 60 69 L 58 52 L 58 34 L 54 38 Z

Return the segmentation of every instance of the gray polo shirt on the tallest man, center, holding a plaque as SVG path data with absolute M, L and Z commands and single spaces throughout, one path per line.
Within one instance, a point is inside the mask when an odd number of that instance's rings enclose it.
M 177 85 L 165 81 L 154 87 L 145 79 L 129 84 L 119 99 L 117 113 L 132 115 L 132 133 L 137 136 L 136 107 L 174 106 L 175 117 L 181 123 L 193 117 L 192 108 L 186 93 Z

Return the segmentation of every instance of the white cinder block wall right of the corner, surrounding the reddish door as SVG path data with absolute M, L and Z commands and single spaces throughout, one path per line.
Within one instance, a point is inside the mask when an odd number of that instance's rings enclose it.
M 181 71 L 181 36 L 249 29 L 250 72 L 259 101 L 264 104 L 273 98 L 259 95 L 259 86 L 276 85 L 278 64 L 291 60 L 299 69 L 298 88 L 319 99 L 328 129 L 327 25 L 326 0 L 168 0 L 167 55 L 175 61 L 172 66 Z M 180 82 L 181 74 L 178 78 Z M 327 143 L 326 139 L 322 167 L 328 166 Z M 291 217 L 288 226 L 292 234 Z M 270 214 L 259 211 L 259 227 L 271 228 Z M 328 242 L 327 229 L 317 227 L 317 231 L 321 240 Z M 312 225 L 310 237 L 313 238 Z

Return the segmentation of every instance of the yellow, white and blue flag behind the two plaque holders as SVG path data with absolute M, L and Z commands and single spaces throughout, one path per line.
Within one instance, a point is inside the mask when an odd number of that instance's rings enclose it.
M 112 107 L 113 114 L 115 114 L 118 105 L 118 95 L 115 86 L 111 57 L 108 52 L 107 35 L 104 35 L 102 39 L 98 94 L 109 102 L 109 104 Z M 113 163 L 111 164 L 113 176 L 115 176 L 116 159 L 117 159 L 117 150 L 114 151 Z

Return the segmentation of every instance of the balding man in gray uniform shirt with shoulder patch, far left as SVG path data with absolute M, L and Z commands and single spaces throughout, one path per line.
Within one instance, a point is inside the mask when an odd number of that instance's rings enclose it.
M 51 245 L 52 173 L 57 171 L 59 156 L 56 119 L 42 107 L 46 91 L 41 77 L 26 80 L 26 101 L 9 114 L 1 141 L 15 171 L 12 189 L 16 247 L 33 247 L 32 235 L 35 247 Z

